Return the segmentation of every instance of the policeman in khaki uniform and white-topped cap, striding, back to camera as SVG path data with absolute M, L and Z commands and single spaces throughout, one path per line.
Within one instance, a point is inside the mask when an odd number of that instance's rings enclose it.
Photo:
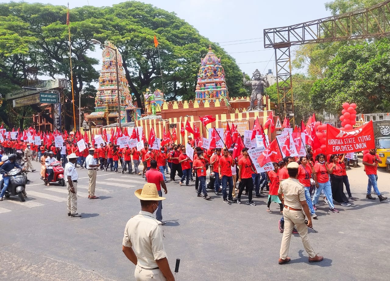
M 316 255 L 307 235 L 307 228 L 312 227 L 312 216 L 306 202 L 305 188 L 297 179 L 298 167 L 299 165 L 296 162 L 291 162 L 287 165 L 289 178 L 280 181 L 278 190 L 278 196 L 284 204 L 284 232 L 282 246 L 280 247 L 279 264 L 284 264 L 291 260 L 287 254 L 289 252 L 291 233 L 293 232 L 294 225 L 296 225 L 302 239 L 303 247 L 305 247 L 309 255 L 309 262 L 321 262 L 324 259 L 323 256 Z M 307 216 L 307 225 L 305 224 L 305 215 L 302 212 L 302 208 Z

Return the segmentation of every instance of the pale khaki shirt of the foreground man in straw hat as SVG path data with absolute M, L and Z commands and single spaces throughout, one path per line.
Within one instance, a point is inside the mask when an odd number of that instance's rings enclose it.
M 156 201 L 158 204 L 158 201 Z M 144 269 L 158 267 L 156 260 L 167 257 L 163 243 L 161 221 L 154 214 L 140 211 L 126 223 L 123 246 L 131 248 L 137 256 L 137 265 Z

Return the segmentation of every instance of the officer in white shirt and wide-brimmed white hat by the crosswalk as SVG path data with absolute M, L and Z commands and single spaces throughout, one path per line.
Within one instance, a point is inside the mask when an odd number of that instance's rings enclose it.
M 66 181 L 66 187 L 68 188 L 68 216 L 73 218 L 80 218 L 81 214 L 77 213 L 77 180 L 78 173 L 74 164 L 77 161 L 78 156 L 76 153 L 71 153 L 66 157 L 68 162 L 65 165 L 65 174 L 64 178 Z

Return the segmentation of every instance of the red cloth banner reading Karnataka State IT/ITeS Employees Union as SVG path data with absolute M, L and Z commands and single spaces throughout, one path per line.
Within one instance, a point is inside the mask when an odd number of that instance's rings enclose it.
M 340 154 L 375 148 L 372 121 L 351 130 L 326 125 L 326 154 Z

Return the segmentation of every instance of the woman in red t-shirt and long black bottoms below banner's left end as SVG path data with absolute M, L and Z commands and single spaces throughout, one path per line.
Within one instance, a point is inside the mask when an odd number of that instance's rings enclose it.
M 343 159 L 344 160 L 344 159 Z M 330 174 L 330 184 L 332 185 L 333 200 L 341 203 L 342 206 L 351 206 L 348 198 L 344 194 L 344 182 L 342 181 L 342 167 L 339 163 L 339 157 L 336 154 L 330 156 L 329 169 L 333 167 L 332 174 Z

